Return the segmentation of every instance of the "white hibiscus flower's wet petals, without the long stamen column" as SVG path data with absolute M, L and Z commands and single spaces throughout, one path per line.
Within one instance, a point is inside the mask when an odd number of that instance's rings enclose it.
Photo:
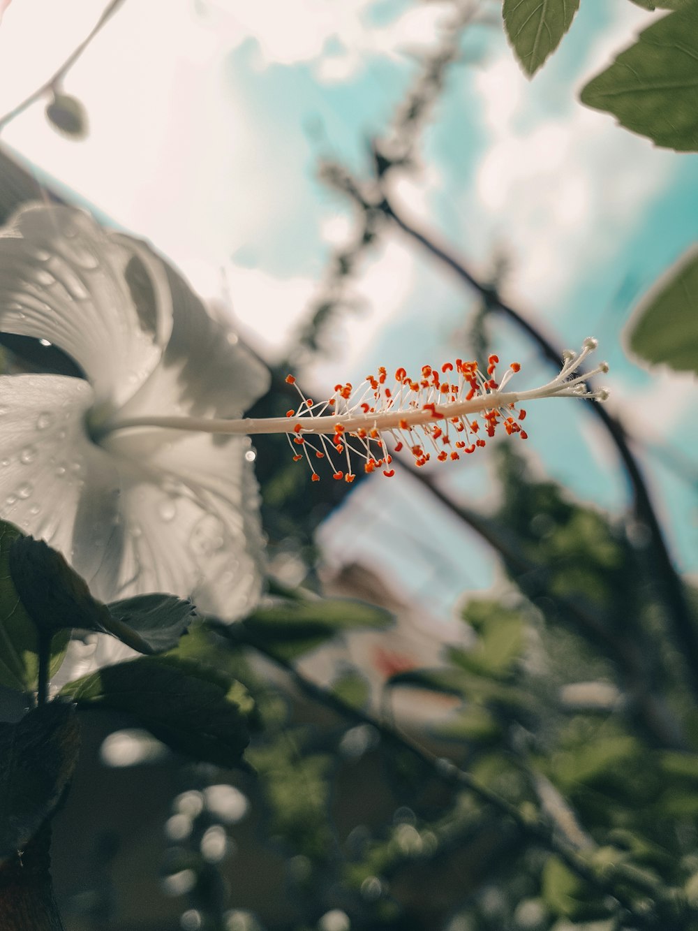
M 0 236 L 0 331 L 55 344 L 86 376 L 0 376 L 0 516 L 101 600 L 168 591 L 246 614 L 263 549 L 248 438 L 100 426 L 237 418 L 267 389 L 262 364 L 147 244 L 65 207 L 22 209 Z

